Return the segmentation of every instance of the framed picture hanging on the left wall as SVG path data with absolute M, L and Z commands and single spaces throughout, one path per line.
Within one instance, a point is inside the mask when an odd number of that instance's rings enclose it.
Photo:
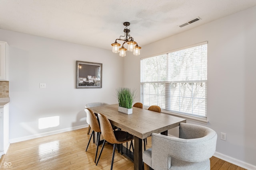
M 76 61 L 76 88 L 102 88 L 102 64 Z

